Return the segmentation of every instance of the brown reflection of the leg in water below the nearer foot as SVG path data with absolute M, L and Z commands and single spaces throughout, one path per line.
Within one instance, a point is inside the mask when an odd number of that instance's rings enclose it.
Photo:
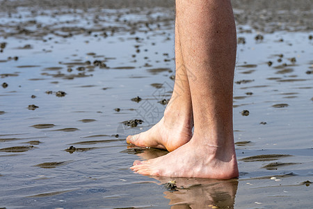
M 156 178 L 166 183 L 170 178 Z M 177 191 L 164 192 L 170 199 L 171 208 L 234 208 L 238 180 L 216 180 L 207 178 L 175 178 Z M 184 189 L 182 189 L 182 187 Z M 185 206 L 185 207 L 182 207 Z

